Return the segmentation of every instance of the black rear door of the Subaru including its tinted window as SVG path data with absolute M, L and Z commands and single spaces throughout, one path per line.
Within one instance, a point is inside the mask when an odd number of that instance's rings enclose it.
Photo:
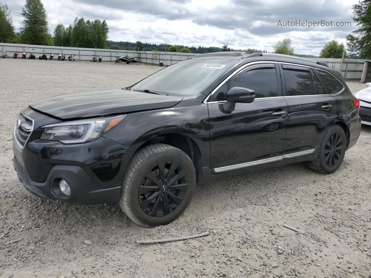
M 284 155 L 313 153 L 324 130 L 336 118 L 336 100 L 311 67 L 280 63 L 283 96 L 288 103 Z

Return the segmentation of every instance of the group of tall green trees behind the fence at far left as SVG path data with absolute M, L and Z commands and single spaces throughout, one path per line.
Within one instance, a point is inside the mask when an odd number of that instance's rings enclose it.
M 22 26 L 15 32 L 12 11 L 0 2 L 0 39 L 4 43 L 22 43 L 48 46 L 107 48 L 108 26 L 105 20 L 75 18 L 65 27 L 58 24 L 52 34 L 46 10 L 40 0 L 26 0 L 22 8 Z

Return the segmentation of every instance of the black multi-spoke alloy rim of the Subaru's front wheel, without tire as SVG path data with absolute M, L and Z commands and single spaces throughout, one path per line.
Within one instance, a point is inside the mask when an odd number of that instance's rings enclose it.
M 142 210 L 151 216 L 170 214 L 183 201 L 188 188 L 187 172 L 174 160 L 152 166 L 142 178 L 138 201 Z

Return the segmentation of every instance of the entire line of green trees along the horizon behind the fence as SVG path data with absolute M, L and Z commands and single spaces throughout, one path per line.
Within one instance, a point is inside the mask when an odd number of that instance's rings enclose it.
M 349 34 L 347 47 L 343 43 L 331 40 L 322 47 L 319 57 L 322 58 L 358 58 L 371 59 L 371 1 L 359 0 L 352 6 L 357 29 Z M 115 42 L 108 40 L 108 26 L 105 20 L 85 20 L 76 17 L 72 24 L 58 24 L 53 36 L 47 22 L 46 10 L 40 0 L 26 0 L 22 8 L 22 26 L 15 32 L 12 11 L 7 3 L 0 1 L 0 39 L 4 43 L 23 43 L 49 46 L 71 46 L 86 48 L 109 48 L 139 51 L 168 51 L 184 53 L 210 53 L 220 51 L 245 51 L 247 53 L 267 52 L 258 49 L 231 49 L 227 45 L 221 47 L 184 46 L 171 44 L 152 44 L 144 42 Z M 292 40 L 285 38 L 273 46 L 273 52 L 300 57 L 316 57 L 294 53 Z

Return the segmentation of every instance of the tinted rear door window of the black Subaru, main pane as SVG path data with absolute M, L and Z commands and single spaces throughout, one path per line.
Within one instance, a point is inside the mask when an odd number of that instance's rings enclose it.
M 283 76 L 287 96 L 315 95 L 313 78 L 309 69 L 287 67 L 283 69 Z

